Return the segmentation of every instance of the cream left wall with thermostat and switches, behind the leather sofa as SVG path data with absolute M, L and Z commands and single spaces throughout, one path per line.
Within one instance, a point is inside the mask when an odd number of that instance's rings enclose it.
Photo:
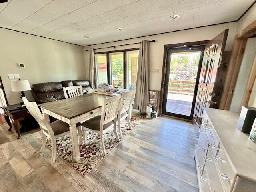
M 18 68 L 17 63 L 25 68 Z M 20 102 L 12 92 L 8 73 L 19 73 L 30 85 L 41 82 L 85 79 L 84 52 L 76 46 L 0 28 L 0 75 L 9 104 Z M 30 91 L 27 91 L 32 99 Z

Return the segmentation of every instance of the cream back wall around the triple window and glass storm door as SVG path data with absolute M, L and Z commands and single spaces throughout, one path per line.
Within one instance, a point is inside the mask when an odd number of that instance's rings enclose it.
M 178 32 L 170 32 L 166 34 L 159 34 L 159 35 L 152 35 L 143 38 L 133 38 L 130 40 L 123 40 L 118 42 L 112 43 L 105 43 L 105 44 L 98 44 L 94 46 L 85 46 L 84 49 L 88 48 L 102 48 L 108 46 L 116 46 L 121 44 L 129 44 L 140 42 L 141 40 L 153 40 L 155 39 L 156 42 L 149 43 L 149 66 L 150 68 L 159 69 L 158 74 L 150 74 L 149 79 L 149 89 L 150 90 L 160 90 L 161 89 L 161 78 L 162 78 L 162 65 L 163 65 L 163 57 L 164 57 L 164 45 L 166 44 L 176 44 L 176 43 L 183 43 L 183 42 L 194 42 L 194 41 L 202 41 L 202 40 L 210 40 L 221 33 L 226 28 L 229 28 L 228 39 L 226 43 L 226 50 L 232 49 L 232 44 L 234 41 L 235 31 L 236 31 L 236 24 L 237 22 L 230 22 L 226 24 L 219 24 L 214 26 L 202 27 L 202 28 L 195 28 L 190 30 L 182 30 Z M 137 48 L 139 44 L 129 45 L 129 46 L 119 46 L 116 47 L 116 50 L 128 49 L 128 48 Z M 114 48 L 106 48 L 95 50 L 95 52 L 104 52 L 104 51 L 111 51 Z M 85 64 L 86 67 L 89 66 L 89 54 L 85 52 Z M 86 77 L 89 77 L 89 74 L 86 73 Z

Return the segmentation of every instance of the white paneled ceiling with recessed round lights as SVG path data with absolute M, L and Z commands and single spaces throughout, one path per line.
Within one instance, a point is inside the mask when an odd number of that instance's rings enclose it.
M 0 4 L 0 27 L 85 46 L 234 21 L 253 2 L 8 0 Z M 170 20 L 174 14 L 180 18 Z

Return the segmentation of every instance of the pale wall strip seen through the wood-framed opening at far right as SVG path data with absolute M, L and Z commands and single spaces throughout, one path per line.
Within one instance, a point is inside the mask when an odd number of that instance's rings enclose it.
M 244 96 L 244 90 L 247 85 L 249 75 L 252 69 L 252 63 L 256 54 L 256 38 L 249 38 L 244 50 L 244 57 L 238 74 L 233 99 L 230 105 L 230 111 L 240 112 L 240 106 Z

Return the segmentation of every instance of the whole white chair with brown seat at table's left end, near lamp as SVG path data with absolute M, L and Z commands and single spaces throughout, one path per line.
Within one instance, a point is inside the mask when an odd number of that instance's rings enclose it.
M 62 135 L 68 134 L 69 125 L 61 120 L 56 120 L 52 123 L 48 122 L 42 115 L 36 102 L 29 102 L 26 97 L 22 97 L 22 100 L 26 105 L 26 108 L 28 109 L 30 114 L 36 119 L 36 121 L 38 122 L 41 128 L 43 140 L 42 140 L 42 147 L 40 149 L 40 152 L 44 151 L 44 147 L 46 145 L 46 137 L 50 138 L 50 140 L 52 141 L 51 163 L 54 163 L 56 158 L 56 150 L 57 150 L 56 138 Z M 80 129 L 80 126 L 78 126 L 78 129 Z M 80 134 L 81 134 L 81 131 L 80 131 Z M 82 138 L 82 135 L 80 135 L 79 138 Z M 81 143 L 81 140 L 80 140 L 80 143 Z

